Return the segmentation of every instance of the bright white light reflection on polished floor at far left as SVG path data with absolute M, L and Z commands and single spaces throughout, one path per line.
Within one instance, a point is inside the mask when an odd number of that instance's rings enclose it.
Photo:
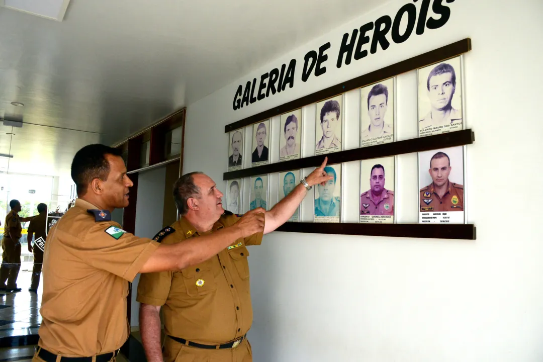
M 22 290 L 18 293 L 0 291 L 0 338 L 38 332 L 41 325 L 42 283 L 37 294 L 29 292 L 31 274 L 31 268 L 30 270 L 21 269 L 17 278 L 17 287 Z

